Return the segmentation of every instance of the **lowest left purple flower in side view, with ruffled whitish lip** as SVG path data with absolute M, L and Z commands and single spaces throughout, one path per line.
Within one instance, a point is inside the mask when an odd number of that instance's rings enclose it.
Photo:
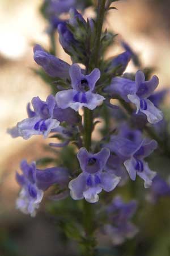
M 16 180 L 22 187 L 16 200 L 16 208 L 25 214 L 35 217 L 36 210 L 42 201 L 44 191 L 53 184 L 65 185 L 68 183 L 69 174 L 64 168 L 46 168 L 39 170 L 36 163 L 28 164 L 26 160 L 20 163 L 22 174 L 16 172 Z

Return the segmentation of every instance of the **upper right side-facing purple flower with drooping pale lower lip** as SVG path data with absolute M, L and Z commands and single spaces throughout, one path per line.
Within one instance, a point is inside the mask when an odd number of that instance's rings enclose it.
M 153 76 L 150 81 L 145 81 L 144 73 L 138 71 L 135 81 L 115 77 L 105 91 L 121 96 L 126 102 L 132 102 L 137 108 L 137 113 L 140 110 L 147 116 L 148 122 L 157 123 L 163 119 L 163 113 L 148 100 L 148 97 L 154 92 L 158 83 L 157 76 Z

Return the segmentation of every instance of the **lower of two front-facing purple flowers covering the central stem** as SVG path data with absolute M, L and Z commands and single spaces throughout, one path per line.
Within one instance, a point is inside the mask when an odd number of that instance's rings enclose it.
M 86 148 L 80 148 L 77 158 L 82 173 L 69 183 L 71 197 L 74 200 L 85 198 L 89 203 L 99 200 L 98 194 L 104 191 L 112 191 L 120 181 L 120 177 L 104 171 L 110 151 L 103 148 L 97 154 L 87 152 Z

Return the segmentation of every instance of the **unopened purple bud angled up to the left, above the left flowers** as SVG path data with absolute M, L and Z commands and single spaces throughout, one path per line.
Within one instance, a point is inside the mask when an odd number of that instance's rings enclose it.
M 51 77 L 59 77 L 62 79 L 69 78 L 70 65 L 65 61 L 45 52 L 44 49 L 36 44 L 33 48 L 34 60 L 39 64 L 45 72 Z

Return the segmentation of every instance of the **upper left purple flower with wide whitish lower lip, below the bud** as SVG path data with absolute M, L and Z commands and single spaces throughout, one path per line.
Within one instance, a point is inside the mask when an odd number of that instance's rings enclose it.
M 65 121 L 69 125 L 79 122 L 78 114 L 71 108 L 58 108 L 52 95 L 48 96 L 46 101 L 34 97 L 32 106 L 34 111 L 30 109 L 30 104 L 27 106 L 28 118 L 18 122 L 16 127 L 7 130 L 13 138 L 29 139 L 32 135 L 43 135 L 46 138 L 50 132 L 54 132 L 58 128 L 60 122 Z

